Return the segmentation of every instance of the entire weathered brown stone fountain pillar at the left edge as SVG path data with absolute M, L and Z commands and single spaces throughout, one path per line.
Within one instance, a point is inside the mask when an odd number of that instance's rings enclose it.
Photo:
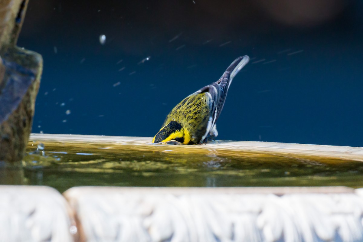
M 28 0 L 0 1 L 0 161 L 20 161 L 32 127 L 43 61 L 16 47 Z

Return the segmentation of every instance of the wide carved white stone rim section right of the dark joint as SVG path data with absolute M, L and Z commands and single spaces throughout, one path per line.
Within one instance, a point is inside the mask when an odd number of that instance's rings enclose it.
M 362 197 L 293 190 L 79 187 L 64 195 L 87 241 L 363 241 Z

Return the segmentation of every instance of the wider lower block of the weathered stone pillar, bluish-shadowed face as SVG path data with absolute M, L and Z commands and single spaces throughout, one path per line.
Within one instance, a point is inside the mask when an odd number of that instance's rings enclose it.
M 32 128 L 42 58 L 20 48 L 0 54 L 6 69 L 0 94 L 0 160 L 19 161 Z

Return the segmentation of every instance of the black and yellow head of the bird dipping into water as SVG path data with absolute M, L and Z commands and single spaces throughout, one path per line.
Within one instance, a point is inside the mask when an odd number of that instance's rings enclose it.
M 181 127 L 180 123 L 173 120 L 160 129 L 158 134 L 152 139 L 152 143 L 166 142 L 169 140 L 176 140 L 182 144 L 188 144 L 191 139 L 189 132 Z

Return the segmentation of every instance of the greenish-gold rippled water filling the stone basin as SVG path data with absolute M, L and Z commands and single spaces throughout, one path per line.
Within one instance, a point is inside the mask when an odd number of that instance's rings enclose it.
M 363 187 L 361 161 L 184 145 L 30 144 L 25 184 L 72 186 Z

